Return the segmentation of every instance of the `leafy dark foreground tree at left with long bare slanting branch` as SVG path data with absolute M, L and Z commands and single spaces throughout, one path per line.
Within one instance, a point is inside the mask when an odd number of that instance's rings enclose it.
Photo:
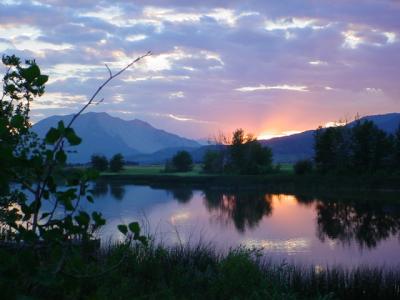
M 29 112 L 32 101 L 45 92 L 48 76 L 41 73 L 35 60 L 23 63 L 14 55 L 3 56 L 7 71 L 0 98 L 0 250 L 8 263 L 2 264 L 0 278 L 7 278 L 6 285 L 23 278 L 22 289 L 37 297 L 34 293 L 51 285 L 59 287 L 56 282 L 78 278 L 90 269 L 84 265 L 88 260 L 83 253 L 93 245 L 94 233 L 105 219 L 98 212 L 81 210 L 80 204 L 93 202 L 88 182 L 96 172 L 60 172 L 56 180 L 55 170 L 67 161 L 64 147 L 81 142 L 72 128 L 74 121 L 96 103 L 96 96 L 108 82 L 141 58 L 115 74 L 108 69 L 110 76 L 71 121 L 60 121 L 39 139 L 31 131 Z M 146 242 L 137 223 L 118 228 L 127 241 Z M 0 280 L 0 288 L 4 291 L 7 287 Z M 17 298 L 17 289 L 11 286 L 8 290 L 15 293 L 10 298 Z

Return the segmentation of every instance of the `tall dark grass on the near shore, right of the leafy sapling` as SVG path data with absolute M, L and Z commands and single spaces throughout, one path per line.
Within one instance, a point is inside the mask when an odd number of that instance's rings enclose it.
M 118 245 L 102 259 L 118 253 Z M 400 299 L 400 270 L 276 263 L 256 250 L 210 244 L 134 246 L 97 286 L 98 299 Z

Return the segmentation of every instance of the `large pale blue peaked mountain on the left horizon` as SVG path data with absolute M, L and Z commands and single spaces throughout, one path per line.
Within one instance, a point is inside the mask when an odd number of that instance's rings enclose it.
M 43 137 L 49 128 L 56 126 L 60 120 L 68 123 L 72 117 L 73 115 L 52 116 L 36 123 L 33 130 Z M 107 157 L 122 153 L 127 157 L 171 147 L 200 147 L 194 140 L 154 128 L 144 121 L 126 121 L 107 113 L 82 114 L 73 127 L 83 142 L 72 148 L 77 152 L 70 155 L 69 162 L 72 163 L 88 162 L 93 153 L 101 153 Z

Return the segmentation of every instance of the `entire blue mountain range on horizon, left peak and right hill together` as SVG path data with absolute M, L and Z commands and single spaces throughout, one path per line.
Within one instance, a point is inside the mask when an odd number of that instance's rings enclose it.
M 73 115 L 52 116 L 36 123 L 33 130 L 44 137 L 50 127 L 56 126 L 60 120 L 67 123 L 72 117 Z M 361 120 L 371 120 L 380 129 L 393 133 L 400 124 L 400 113 L 366 116 Z M 347 126 L 353 124 L 351 122 Z M 108 158 L 122 153 L 127 161 L 140 164 L 164 163 L 180 150 L 190 152 L 194 161 L 200 162 L 204 153 L 214 147 L 154 128 L 138 119 L 126 121 L 107 113 L 82 114 L 73 127 L 83 142 L 73 148 L 76 153 L 70 154 L 70 163 L 89 162 L 94 153 Z M 260 142 L 272 149 L 275 162 L 295 162 L 313 156 L 314 133 L 315 130 L 308 130 Z

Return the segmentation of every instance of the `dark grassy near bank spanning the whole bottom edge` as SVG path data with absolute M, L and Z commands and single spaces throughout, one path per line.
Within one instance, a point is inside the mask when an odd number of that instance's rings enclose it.
M 221 254 L 206 245 L 129 249 L 114 245 L 87 258 L 79 273 L 74 268 L 74 262 L 68 262 L 62 274 L 33 283 L 26 274 L 14 271 L 13 278 L 1 280 L 4 299 L 400 297 L 398 269 L 296 267 L 272 263 L 256 251 L 237 249 Z

